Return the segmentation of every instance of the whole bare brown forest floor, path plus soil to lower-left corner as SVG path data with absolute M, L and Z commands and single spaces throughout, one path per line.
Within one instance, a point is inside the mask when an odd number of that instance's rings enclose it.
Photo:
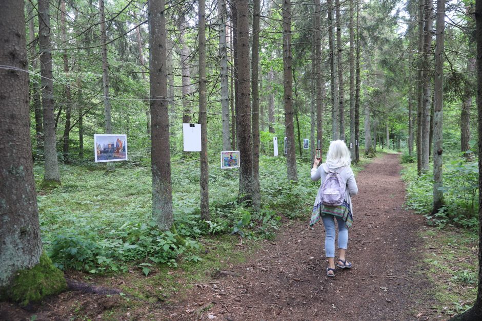
M 284 219 L 274 240 L 234 239 L 233 252 L 244 252 L 246 260 L 228 258 L 225 270 L 211 271 L 165 301 L 68 291 L 24 309 L 0 303 L 0 319 L 32 319 L 33 315 L 37 320 L 447 319 L 450 313 L 436 299 L 436 284 L 429 279 L 431 266 L 425 263 L 427 253 L 435 257 L 439 253 L 437 244 L 429 246 L 436 240 L 427 237 L 423 216 L 404 210 L 400 169 L 399 155 L 387 154 L 357 175 L 359 193 L 353 197 L 354 225 L 347 254 L 353 267 L 337 269 L 334 278 L 326 277 L 323 223 L 310 228 L 307 213 L 302 220 Z M 68 276 L 82 278 L 75 273 Z M 182 273 L 176 276 L 178 289 L 189 283 L 186 273 L 184 281 Z M 121 289 L 129 282 L 122 275 L 95 280 Z M 154 288 L 156 283 L 138 287 Z

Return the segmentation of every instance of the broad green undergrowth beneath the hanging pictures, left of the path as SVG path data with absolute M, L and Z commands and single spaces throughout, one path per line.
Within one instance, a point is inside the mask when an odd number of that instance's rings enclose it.
M 358 172 L 366 160 L 353 166 Z M 286 179 L 286 159 L 260 158 L 263 208 L 253 212 L 239 202 L 238 169 L 210 166 L 211 219 L 199 210 L 198 159 L 172 162 L 174 223 L 178 234 L 160 231 L 151 221 L 151 172 L 147 166 L 105 164 L 61 166 L 62 184 L 41 186 L 43 172 L 35 166 L 39 217 L 46 251 L 62 270 L 91 274 L 135 271 L 150 276 L 159 267 L 206 260 L 201 240 L 232 235 L 245 240 L 275 237 L 283 217 L 309 216 L 319 182 L 309 177 L 310 164 L 298 160 L 298 182 Z M 180 260 L 180 261 L 179 261 Z M 211 264 L 212 265 L 212 264 Z

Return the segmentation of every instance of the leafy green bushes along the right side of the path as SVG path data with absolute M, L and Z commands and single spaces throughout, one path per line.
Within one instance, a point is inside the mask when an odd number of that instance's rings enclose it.
M 401 174 L 407 184 L 407 208 L 424 215 L 429 225 L 438 228 L 460 226 L 475 231 L 479 206 L 477 160 L 467 162 L 459 155 L 451 155 L 444 160 L 443 173 L 440 189 L 444 192 L 445 205 L 432 214 L 433 173 L 417 177 L 416 163 L 406 163 Z

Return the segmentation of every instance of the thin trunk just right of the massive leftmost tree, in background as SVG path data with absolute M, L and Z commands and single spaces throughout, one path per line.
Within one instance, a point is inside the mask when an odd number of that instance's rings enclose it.
M 31 8 L 32 5 L 29 4 L 29 10 L 34 11 Z M 35 15 L 30 17 L 29 21 L 29 42 L 30 42 L 30 55 L 32 56 L 32 68 L 34 71 L 37 70 L 37 52 L 35 45 L 35 27 L 34 27 L 34 19 Z M 32 102 L 33 102 L 33 110 L 35 113 L 35 141 L 37 144 L 37 150 L 41 151 L 44 148 L 44 133 L 43 133 L 43 126 L 42 126 L 42 104 L 40 99 L 40 88 L 36 81 L 32 82 Z

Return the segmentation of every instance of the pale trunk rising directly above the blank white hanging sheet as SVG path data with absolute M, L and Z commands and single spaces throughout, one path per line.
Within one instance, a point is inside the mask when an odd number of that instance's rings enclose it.
M 191 102 L 189 101 L 190 95 L 192 95 L 191 86 L 191 68 L 189 66 L 189 47 L 186 44 L 185 32 L 186 32 L 186 21 L 185 17 L 182 17 L 182 22 L 180 22 L 180 35 L 179 35 L 179 46 L 180 46 L 180 62 L 181 62 L 181 79 L 182 79 L 182 93 L 183 93 L 183 123 L 190 123 L 191 120 Z

